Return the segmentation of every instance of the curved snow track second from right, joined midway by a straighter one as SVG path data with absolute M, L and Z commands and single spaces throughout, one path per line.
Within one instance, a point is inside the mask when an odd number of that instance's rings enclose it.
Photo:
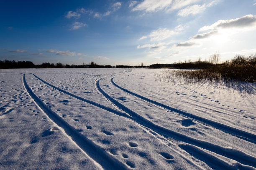
M 213 153 L 223 155 L 226 158 L 236 160 L 237 162 L 242 163 L 244 165 L 249 165 L 249 166 L 253 166 L 254 168 L 256 168 L 256 158 L 251 155 L 248 155 L 246 153 L 243 153 L 240 150 L 236 150 L 233 148 L 224 148 L 219 145 L 215 145 L 215 144 L 212 144 L 212 143 L 209 143 L 206 141 L 197 140 L 197 139 L 191 138 L 189 136 L 183 135 L 181 133 L 177 133 L 175 131 L 163 128 L 163 127 L 156 125 L 153 122 L 145 119 L 141 115 L 138 115 L 136 112 L 130 110 L 128 107 L 125 107 L 120 102 L 116 101 L 115 99 L 110 97 L 110 95 L 108 95 L 106 92 L 104 92 L 100 88 L 100 85 L 99 85 L 100 80 L 101 79 L 97 80 L 96 85 L 97 85 L 98 90 L 102 93 L 102 95 L 104 95 L 106 98 L 108 98 L 108 100 L 113 102 L 117 107 L 119 107 L 120 109 L 122 109 L 123 111 L 125 111 L 126 113 L 131 115 L 131 117 L 132 117 L 131 119 L 134 120 L 135 122 L 137 122 L 138 124 L 143 125 L 147 128 L 150 128 L 151 130 L 155 131 L 156 133 L 158 133 L 160 135 L 163 135 L 164 137 L 167 136 L 167 137 L 182 141 L 184 143 L 195 145 L 197 147 L 209 150 Z

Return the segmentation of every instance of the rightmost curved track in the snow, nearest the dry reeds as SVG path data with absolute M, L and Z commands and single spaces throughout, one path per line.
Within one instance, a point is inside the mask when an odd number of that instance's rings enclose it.
M 115 85 L 115 87 L 118 87 L 120 90 L 123 90 L 124 92 L 127 92 L 127 93 L 129 93 L 129 94 L 131 94 L 131 95 L 134 95 L 134 96 L 136 96 L 136 97 L 138 97 L 138 98 L 141 98 L 141 99 L 143 99 L 143 100 L 145 100 L 145 101 L 147 101 L 147 102 L 150 102 L 150 103 L 152 103 L 152 104 L 154 104 L 154 105 L 158 105 L 158 106 L 160 106 L 160 107 L 163 107 L 163 108 L 165 108 L 165 109 L 167 109 L 167 110 L 170 110 L 170 111 L 173 111 L 173 112 L 177 112 L 177 113 L 182 114 L 182 115 L 184 115 L 184 116 L 187 116 L 187 117 L 190 117 L 190 118 L 192 118 L 192 119 L 198 120 L 198 121 L 200 121 L 200 122 L 206 123 L 206 124 L 208 124 L 208 125 L 211 125 L 211 126 L 214 127 L 214 128 L 217 128 L 217 129 L 219 129 L 219 130 L 222 130 L 222 131 L 224 131 L 224 132 L 226 132 L 226 133 L 230 133 L 230 134 L 236 135 L 238 138 L 241 138 L 241 139 L 243 139 L 243 140 L 246 140 L 246 141 L 248 141 L 248 142 L 251 142 L 251 143 L 256 144 L 256 135 L 254 135 L 254 134 L 252 134 L 252 133 L 248 133 L 248 132 L 246 132 L 246 131 L 243 131 L 243 130 L 240 130 L 240 129 L 236 129 L 236 128 L 230 127 L 230 126 L 228 126 L 228 125 L 223 125 L 223 124 L 221 124 L 221 123 L 219 123 L 219 122 L 215 122 L 215 121 L 212 121 L 212 120 L 208 120 L 208 119 L 205 119 L 205 118 L 203 118 L 203 117 L 196 116 L 196 115 L 193 115 L 193 114 L 191 114 L 191 113 L 184 112 L 184 111 L 175 109 L 175 108 L 173 108 L 173 107 L 164 105 L 164 104 L 162 104 L 162 103 L 156 102 L 156 101 L 154 101 L 154 100 L 148 99 L 148 98 L 143 97 L 143 96 L 141 96 L 141 95 L 138 95 L 138 94 L 136 94 L 136 93 L 134 93 L 134 92 L 131 92 L 131 91 L 129 91 L 129 90 L 126 90 L 126 89 L 123 88 L 123 87 L 120 87 L 119 85 L 115 84 L 115 82 L 113 81 L 113 78 L 114 78 L 114 77 L 112 77 L 112 78 L 110 79 L 110 82 L 111 82 L 113 85 Z

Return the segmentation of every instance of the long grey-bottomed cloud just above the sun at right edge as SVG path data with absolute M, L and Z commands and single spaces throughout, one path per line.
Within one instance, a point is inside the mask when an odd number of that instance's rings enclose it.
M 207 25 L 200 28 L 200 31 L 214 30 L 217 28 L 244 28 L 256 25 L 256 15 L 245 15 L 241 18 L 231 19 L 231 20 L 218 20 L 212 25 Z

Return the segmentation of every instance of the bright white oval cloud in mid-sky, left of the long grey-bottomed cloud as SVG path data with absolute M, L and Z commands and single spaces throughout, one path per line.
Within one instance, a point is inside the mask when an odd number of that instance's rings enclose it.
M 151 41 L 160 41 L 160 40 L 164 40 L 166 38 L 171 37 L 172 35 L 177 34 L 177 32 L 173 31 L 173 30 L 168 30 L 167 28 L 164 29 L 157 29 L 157 30 L 153 30 L 148 37 L 151 37 Z

